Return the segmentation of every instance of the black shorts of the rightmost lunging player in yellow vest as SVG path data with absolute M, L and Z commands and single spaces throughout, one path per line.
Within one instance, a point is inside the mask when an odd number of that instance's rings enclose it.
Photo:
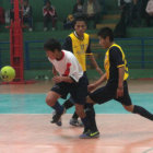
M 127 81 L 123 81 L 123 96 L 116 98 L 117 93 L 117 83 L 107 83 L 105 86 L 97 89 L 93 93 L 90 94 L 90 97 L 97 104 L 104 104 L 110 99 L 116 99 L 120 102 L 122 105 L 130 106 L 131 98 L 129 96 L 128 84 Z

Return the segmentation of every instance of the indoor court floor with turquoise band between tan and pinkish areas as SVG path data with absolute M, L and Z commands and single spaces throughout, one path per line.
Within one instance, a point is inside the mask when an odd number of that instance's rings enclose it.
M 153 113 L 152 86 L 152 80 L 129 81 L 133 104 Z M 0 85 L 0 153 L 153 153 L 153 122 L 114 101 L 95 106 L 98 139 L 79 139 L 83 129 L 69 125 L 73 108 L 62 127 L 50 123 L 50 81 Z

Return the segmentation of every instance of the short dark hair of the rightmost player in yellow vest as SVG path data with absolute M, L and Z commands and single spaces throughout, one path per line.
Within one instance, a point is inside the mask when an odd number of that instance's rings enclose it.
M 109 37 L 110 42 L 114 42 L 114 32 L 111 31 L 111 28 L 109 27 L 103 27 L 99 30 L 99 32 L 97 33 L 97 35 L 102 38 L 106 38 L 107 36 Z

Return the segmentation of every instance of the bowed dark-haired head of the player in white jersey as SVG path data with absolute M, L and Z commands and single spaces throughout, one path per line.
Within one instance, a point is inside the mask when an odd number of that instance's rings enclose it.
M 47 57 L 51 59 L 58 59 L 61 54 L 61 44 L 55 38 L 49 38 L 44 44 L 44 49 L 46 51 Z

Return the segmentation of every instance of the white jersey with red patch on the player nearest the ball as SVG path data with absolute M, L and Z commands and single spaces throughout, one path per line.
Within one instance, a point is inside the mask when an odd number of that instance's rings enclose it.
M 78 61 L 78 59 L 74 57 L 74 55 L 67 50 L 61 50 L 63 56 L 60 60 L 50 59 L 48 57 L 48 60 L 54 64 L 55 69 L 58 71 L 58 73 L 62 76 L 70 76 L 75 82 L 79 82 L 79 79 L 83 75 L 83 70 Z

